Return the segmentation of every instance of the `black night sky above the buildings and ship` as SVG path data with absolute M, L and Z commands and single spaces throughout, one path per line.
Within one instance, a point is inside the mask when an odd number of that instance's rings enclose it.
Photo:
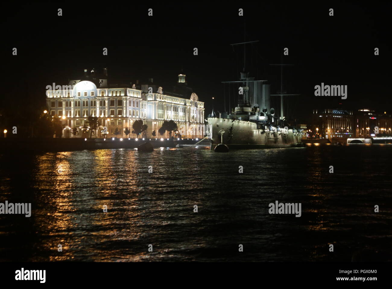
M 67 84 L 83 68 L 105 66 L 115 83 L 152 77 L 164 90 L 172 90 L 183 68 L 207 113 L 212 97 L 216 109 L 224 111 L 229 87 L 223 89 L 221 81 L 238 80 L 243 67 L 243 47 L 233 51 L 229 44 L 243 42 L 245 21 L 246 41 L 260 40 L 247 46 L 246 68 L 250 76 L 269 80 L 272 93 L 279 89 L 280 68 L 269 64 L 280 63 L 283 48 L 289 48 L 283 63 L 294 66 L 284 68 L 283 83 L 287 93 L 301 94 L 287 101 L 299 121 L 307 121 L 313 108 L 339 103 L 349 110 L 391 109 L 391 4 L 258 3 L 8 4 L 2 17 L 2 98 L 42 102 L 46 85 Z M 61 17 L 58 8 L 63 9 Z M 149 8 L 152 17 L 147 16 Z M 195 47 L 198 55 L 193 55 Z M 322 82 L 348 85 L 348 98 L 314 96 L 314 86 Z M 233 86 L 232 107 L 234 91 L 238 88 Z

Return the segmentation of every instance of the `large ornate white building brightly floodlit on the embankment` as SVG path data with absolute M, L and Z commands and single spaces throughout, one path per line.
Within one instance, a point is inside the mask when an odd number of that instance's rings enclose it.
M 192 91 L 186 86 L 185 75 L 178 77 L 185 92 Z M 60 117 L 65 124 L 63 137 L 71 137 L 74 127 L 79 132 L 76 137 L 87 137 L 89 133 L 82 133 L 82 127 L 88 126 L 88 116 L 99 118 L 99 124 L 107 127 L 107 137 L 116 137 L 116 128 L 120 131 L 117 137 L 125 137 L 124 129 L 128 127 L 132 131 L 135 120 L 143 120 L 147 124 L 147 138 L 160 138 L 158 129 L 165 120 L 174 120 L 189 137 L 200 138 L 205 134 L 204 103 L 195 93 L 191 92 L 189 98 L 166 93 L 162 87 L 154 85 L 152 79 L 145 84 L 110 84 L 107 68 L 103 69 L 102 75 L 98 75 L 94 69 L 90 73 L 85 69 L 84 77 L 47 90 L 46 96 L 50 115 Z M 103 137 L 101 129 L 98 129 L 98 137 Z M 152 136 L 152 131 L 156 136 Z M 136 136 L 130 134 L 130 137 Z M 166 132 L 163 137 L 169 137 L 169 133 Z

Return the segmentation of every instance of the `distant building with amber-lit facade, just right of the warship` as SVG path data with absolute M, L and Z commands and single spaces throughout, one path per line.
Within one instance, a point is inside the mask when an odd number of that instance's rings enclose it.
M 350 138 L 355 134 L 352 111 L 337 109 L 314 109 L 312 133 L 322 138 Z

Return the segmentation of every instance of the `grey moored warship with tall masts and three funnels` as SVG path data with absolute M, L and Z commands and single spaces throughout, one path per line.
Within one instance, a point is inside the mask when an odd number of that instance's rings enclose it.
M 249 42 L 239 44 L 245 43 Z M 212 114 L 207 118 L 211 150 L 226 152 L 229 149 L 305 146 L 301 143 L 301 129 L 291 126 L 283 116 L 283 96 L 295 94 L 283 94 L 281 89 L 280 94 L 271 95 L 271 85 L 267 84 L 267 80 L 255 80 L 254 77 L 249 77 L 245 68 L 244 72 L 240 72 L 239 81 L 222 83 L 239 84 L 240 97 L 238 105 L 231 113 L 219 113 L 218 117 L 212 109 Z M 280 96 L 279 117 L 271 107 L 271 96 Z

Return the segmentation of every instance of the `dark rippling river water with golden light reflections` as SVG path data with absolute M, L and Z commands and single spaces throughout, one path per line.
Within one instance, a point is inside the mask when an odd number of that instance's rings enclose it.
M 0 260 L 390 261 L 391 156 L 392 145 L 1 155 L 0 202 L 33 212 L 0 215 Z M 301 217 L 270 215 L 275 201 L 300 202 Z

